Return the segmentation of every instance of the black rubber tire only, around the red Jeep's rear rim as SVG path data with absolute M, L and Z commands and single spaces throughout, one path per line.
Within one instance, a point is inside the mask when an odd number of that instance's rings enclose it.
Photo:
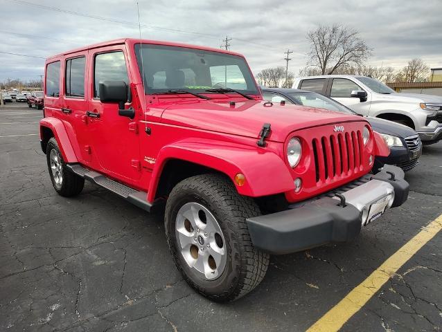
M 55 183 L 55 179 L 53 177 L 52 171 L 51 171 L 51 150 L 55 149 L 57 153 L 60 156 L 61 164 L 62 164 L 62 173 L 63 173 L 63 181 L 61 185 L 58 185 Z M 83 190 L 83 187 L 85 186 L 85 179 L 80 178 L 77 174 L 74 174 L 71 172 L 67 167 L 66 163 L 63 160 L 62 154 L 60 152 L 60 149 L 58 147 L 57 140 L 55 138 L 51 138 L 48 141 L 48 145 L 46 147 L 46 160 L 48 163 L 48 172 L 49 176 L 51 176 L 52 185 L 58 194 L 64 197 L 71 197 L 76 196 L 80 194 L 80 192 Z

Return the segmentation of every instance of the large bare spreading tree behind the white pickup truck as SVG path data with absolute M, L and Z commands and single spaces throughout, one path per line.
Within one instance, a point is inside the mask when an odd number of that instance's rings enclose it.
M 330 75 L 345 64 L 360 66 L 371 55 L 371 48 L 358 36 L 357 30 L 346 26 L 319 26 L 307 34 L 307 39 L 309 64 L 320 68 L 321 75 Z

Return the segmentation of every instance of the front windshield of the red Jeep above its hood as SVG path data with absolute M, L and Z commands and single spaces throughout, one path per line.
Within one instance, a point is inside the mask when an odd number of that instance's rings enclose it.
M 236 55 L 152 44 L 143 44 L 141 50 L 137 44 L 135 54 L 141 75 L 144 71 L 145 93 L 227 88 L 259 94 L 245 59 Z

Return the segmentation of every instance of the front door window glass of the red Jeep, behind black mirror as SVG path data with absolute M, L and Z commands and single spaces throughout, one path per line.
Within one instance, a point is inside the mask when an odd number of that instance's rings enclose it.
M 100 53 L 95 56 L 94 97 L 100 97 L 98 86 L 102 81 L 124 81 L 129 84 L 123 52 Z

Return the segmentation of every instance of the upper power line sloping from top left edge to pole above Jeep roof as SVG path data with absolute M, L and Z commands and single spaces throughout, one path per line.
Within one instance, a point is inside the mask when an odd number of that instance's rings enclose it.
M 58 7 L 53 7 L 53 6 L 44 6 L 44 5 L 40 5 L 39 3 L 33 3 L 33 2 L 21 1 L 21 0 L 10 0 L 10 1 L 14 1 L 14 2 L 20 3 L 21 5 L 31 6 L 31 7 L 35 7 L 35 8 L 44 9 L 44 10 L 52 10 L 54 12 L 63 12 L 65 14 L 70 14 L 70 15 L 89 17 L 90 19 L 100 19 L 102 21 L 109 21 L 109 22 L 114 22 L 114 23 L 119 23 L 119 24 L 127 24 L 127 25 L 130 25 L 130 26 L 138 26 L 137 23 L 131 22 L 131 21 L 123 21 L 123 20 L 119 20 L 119 19 L 112 19 L 110 17 L 102 17 L 102 16 L 98 16 L 98 15 L 89 15 L 89 14 L 86 14 L 84 12 L 76 12 L 76 11 L 73 11 L 73 10 L 66 10 L 66 9 L 62 9 L 62 8 L 58 8 Z M 154 30 L 164 30 L 164 31 L 169 31 L 169 32 L 173 32 L 173 33 L 188 33 L 188 34 L 200 35 L 200 36 L 204 36 L 206 38 L 212 38 L 212 39 L 218 39 L 219 38 L 218 35 L 212 35 L 212 34 L 209 34 L 209 33 L 197 33 L 195 31 L 179 30 L 179 29 L 172 29 L 172 28 L 163 28 L 163 27 L 159 27 L 159 26 L 149 26 L 147 24 L 141 24 L 141 26 L 143 26 L 144 28 L 151 28 L 151 29 L 154 29 Z

